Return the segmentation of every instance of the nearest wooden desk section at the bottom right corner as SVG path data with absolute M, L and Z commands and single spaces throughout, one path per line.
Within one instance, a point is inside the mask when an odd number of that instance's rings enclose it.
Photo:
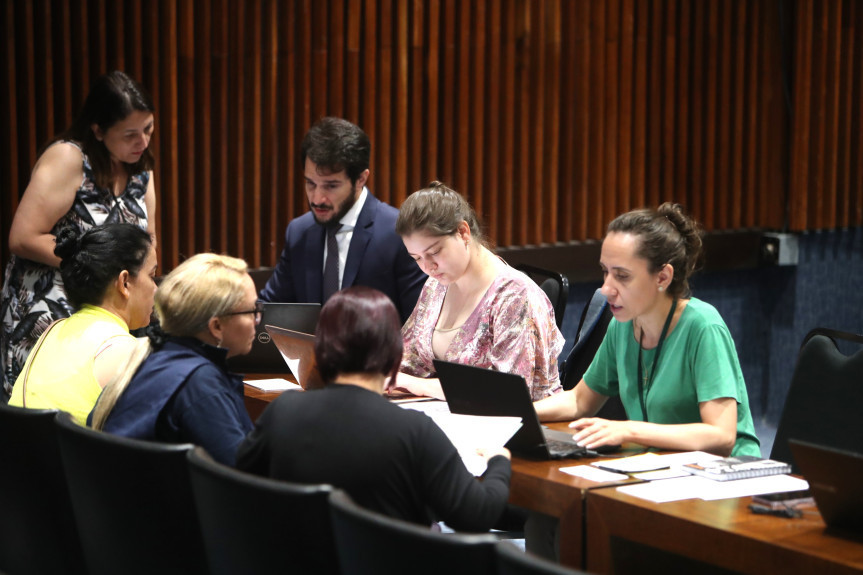
M 649 564 L 665 572 L 753 575 L 863 571 L 863 539 L 825 533 L 814 507 L 802 518 L 785 519 L 751 513 L 747 509 L 751 500 L 651 503 L 616 489 L 591 490 L 587 493 L 587 570 L 643 572 Z

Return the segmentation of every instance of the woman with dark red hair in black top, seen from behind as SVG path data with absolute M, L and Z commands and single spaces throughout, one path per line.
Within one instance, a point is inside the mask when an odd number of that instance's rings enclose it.
M 329 483 L 363 507 L 422 525 L 491 528 L 509 497 L 509 451 L 485 453 L 488 469 L 477 481 L 429 417 L 382 397 L 402 357 L 389 298 L 360 286 L 337 292 L 321 310 L 316 336 L 325 387 L 273 401 L 240 447 L 237 467 Z

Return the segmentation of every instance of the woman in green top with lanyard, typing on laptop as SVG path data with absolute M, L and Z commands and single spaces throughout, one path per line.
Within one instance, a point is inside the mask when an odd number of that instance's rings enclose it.
M 600 266 L 614 319 L 584 378 L 537 402 L 543 421 L 574 419 L 590 449 L 650 447 L 760 456 L 746 384 L 731 334 L 716 308 L 690 296 L 701 235 L 679 205 L 618 216 Z M 619 395 L 628 421 L 592 417 Z

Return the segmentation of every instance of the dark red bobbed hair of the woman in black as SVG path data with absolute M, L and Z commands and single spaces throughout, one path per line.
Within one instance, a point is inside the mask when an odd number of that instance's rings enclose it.
M 321 309 L 315 336 L 315 360 L 326 383 L 340 373 L 398 373 L 404 347 L 399 314 L 376 289 L 336 292 Z

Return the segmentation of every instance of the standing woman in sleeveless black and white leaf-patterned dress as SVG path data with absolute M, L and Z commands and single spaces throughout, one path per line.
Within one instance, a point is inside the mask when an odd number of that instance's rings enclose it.
M 12 220 L 0 296 L 0 400 L 52 321 L 75 311 L 54 255 L 66 228 L 130 223 L 156 237 L 153 103 L 123 72 L 101 76 L 68 130 L 39 156 Z

